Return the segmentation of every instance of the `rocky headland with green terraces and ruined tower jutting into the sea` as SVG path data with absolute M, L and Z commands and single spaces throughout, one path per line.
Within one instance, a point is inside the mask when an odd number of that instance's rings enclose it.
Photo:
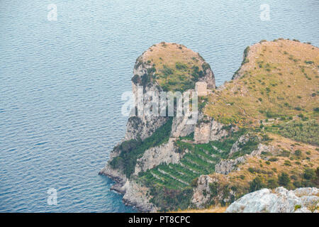
M 245 50 L 233 80 L 216 89 L 198 53 L 153 45 L 135 63 L 133 93 L 202 87 L 198 121 L 190 123 L 190 113 L 130 116 L 100 173 L 141 211 L 227 206 L 264 187 L 318 187 L 318 56 L 318 48 L 296 41 L 257 43 Z

